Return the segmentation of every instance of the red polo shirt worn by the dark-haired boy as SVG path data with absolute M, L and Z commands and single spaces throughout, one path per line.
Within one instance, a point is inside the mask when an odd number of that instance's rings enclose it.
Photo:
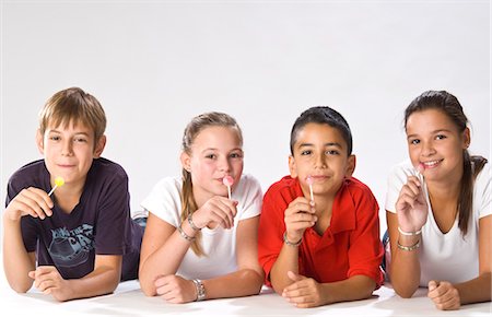
M 270 283 L 270 270 L 283 246 L 284 212 L 289 203 L 302 197 L 297 178 L 277 181 L 265 193 L 258 233 L 258 257 Z M 300 274 L 320 283 L 345 280 L 353 275 L 383 284 L 379 265 L 383 246 L 379 239 L 379 207 L 371 189 L 351 177 L 335 197 L 330 225 L 318 235 L 312 227 L 303 235 L 298 249 Z

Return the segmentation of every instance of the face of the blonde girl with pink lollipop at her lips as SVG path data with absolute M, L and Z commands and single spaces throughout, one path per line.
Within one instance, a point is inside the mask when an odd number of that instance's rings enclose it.
M 181 153 L 181 164 L 191 173 L 198 206 L 213 196 L 227 196 L 223 178 L 230 175 L 233 188 L 237 185 L 243 174 L 243 156 L 242 141 L 234 128 L 210 126 L 197 134 L 190 153 Z

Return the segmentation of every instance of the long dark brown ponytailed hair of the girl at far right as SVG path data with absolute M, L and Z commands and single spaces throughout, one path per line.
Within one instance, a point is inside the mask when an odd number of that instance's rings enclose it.
M 411 114 L 426 109 L 437 109 L 445 114 L 464 132 L 468 118 L 465 115 L 458 99 L 445 91 L 427 91 L 414 98 L 405 110 L 405 128 Z M 458 197 L 458 226 L 461 235 L 468 232 L 468 222 L 473 207 L 473 184 L 477 175 L 487 164 L 487 158 L 471 155 L 467 149 L 462 150 L 461 188 Z

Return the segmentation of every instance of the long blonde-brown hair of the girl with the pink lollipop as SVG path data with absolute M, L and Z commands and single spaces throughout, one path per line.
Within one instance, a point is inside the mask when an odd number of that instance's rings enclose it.
M 186 126 L 183 134 L 181 150 L 191 155 L 191 145 L 197 136 L 208 127 L 230 127 L 237 132 L 241 145 L 243 145 L 243 133 L 236 120 L 227 114 L 223 113 L 206 113 L 191 119 Z M 191 181 L 191 173 L 183 168 L 183 190 L 181 190 L 181 221 L 185 221 L 189 214 L 197 211 L 198 206 L 195 201 L 194 185 Z M 196 239 L 191 243 L 191 249 L 197 256 L 203 256 L 201 247 L 201 232 L 197 233 Z

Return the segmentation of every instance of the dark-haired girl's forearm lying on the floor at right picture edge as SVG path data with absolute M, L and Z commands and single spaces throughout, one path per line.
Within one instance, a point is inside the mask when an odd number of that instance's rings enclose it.
M 473 280 L 455 284 L 454 286 L 458 290 L 461 305 L 465 305 L 490 302 L 492 300 L 491 283 L 491 272 L 485 272 Z

